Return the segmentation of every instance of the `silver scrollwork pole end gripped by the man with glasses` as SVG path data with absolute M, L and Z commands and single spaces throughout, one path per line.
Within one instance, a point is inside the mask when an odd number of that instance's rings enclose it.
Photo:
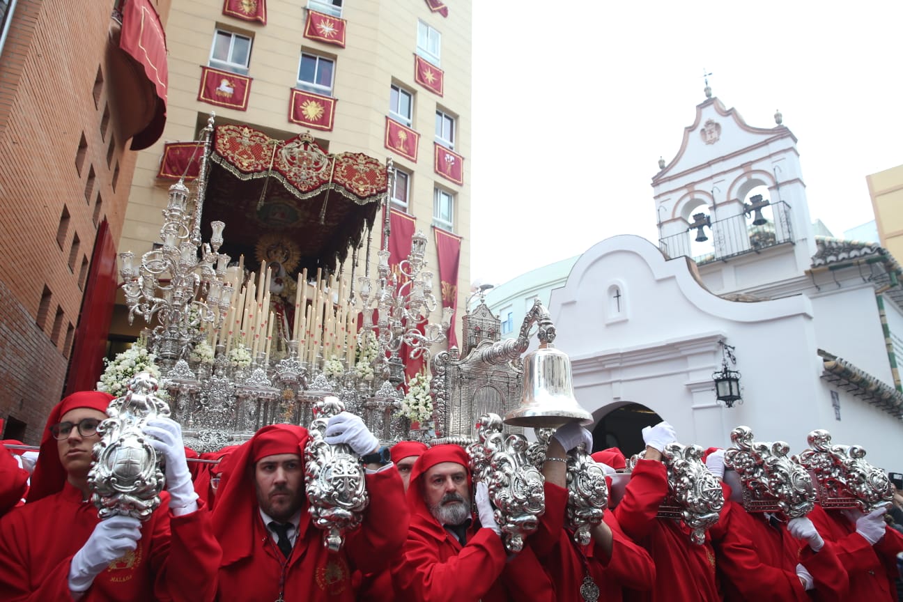
M 128 392 L 110 402 L 109 418 L 98 425 L 97 460 L 88 473 L 88 486 L 101 519 L 123 514 L 146 521 L 160 505 L 163 471 L 143 431 L 146 421 L 170 414 L 156 392 L 154 376 L 138 373 L 129 381 Z

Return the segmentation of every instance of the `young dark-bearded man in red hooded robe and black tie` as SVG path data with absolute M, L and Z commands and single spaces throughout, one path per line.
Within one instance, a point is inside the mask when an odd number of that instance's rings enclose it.
M 360 456 L 377 449 L 377 438 L 348 412 L 330 418 L 325 435 L 328 443 L 347 443 Z M 274 424 L 224 460 L 213 511 L 224 551 L 220 602 L 352 602 L 357 596 L 352 573 L 385 570 L 405 542 L 404 489 L 389 462 L 367 465 L 370 503 L 363 523 L 346 533 L 339 552 L 323 545 L 304 492 L 307 440 L 303 427 Z

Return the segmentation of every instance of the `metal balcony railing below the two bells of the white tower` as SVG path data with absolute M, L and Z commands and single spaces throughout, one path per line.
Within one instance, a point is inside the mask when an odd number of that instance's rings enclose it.
M 785 243 L 792 245 L 794 237 L 790 206 L 783 201 L 773 202 L 763 213 L 770 215 L 759 226 L 753 225 L 751 218 L 740 213 L 731 218 L 712 221 L 712 226 L 705 232 L 707 241 L 697 241 L 698 230 L 690 227 L 684 232 L 660 238 L 658 248 L 669 258 L 685 255 L 702 265 L 738 255 L 759 253 L 770 246 Z

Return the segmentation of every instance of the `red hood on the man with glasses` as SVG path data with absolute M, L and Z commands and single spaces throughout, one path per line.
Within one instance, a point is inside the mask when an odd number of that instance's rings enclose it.
M 51 434 L 51 426 L 58 424 L 62 416 L 70 410 L 90 408 L 98 412 L 107 412 L 107 406 L 114 399 L 113 395 L 100 391 L 79 391 L 64 397 L 60 403 L 53 406 L 41 436 L 41 451 L 38 452 L 32 486 L 28 490 L 29 502 L 36 502 L 42 497 L 62 491 L 62 486 L 66 483 L 66 469 L 62 468 L 60 455 L 57 453 L 57 442 Z

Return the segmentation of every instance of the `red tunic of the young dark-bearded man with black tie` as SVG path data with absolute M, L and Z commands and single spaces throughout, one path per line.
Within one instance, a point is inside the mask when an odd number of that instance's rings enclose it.
M 306 506 L 301 513 L 298 539 L 287 562 L 256 508 L 253 514 L 246 514 L 250 524 L 230 523 L 229 530 L 251 530 L 254 537 L 247 551 L 229 549 L 227 542 L 223 542 L 220 602 L 272 602 L 279 597 L 280 581 L 284 581 L 286 600 L 356 600 L 352 571 L 376 573 L 386 569 L 407 533 L 404 487 L 397 469 L 386 468 L 368 474 L 366 479 L 370 505 L 364 521 L 357 530 L 347 533 L 338 553 L 323 546 L 323 531 L 312 525 Z M 247 486 L 254 487 L 253 483 Z M 218 507 L 217 512 L 221 509 Z

